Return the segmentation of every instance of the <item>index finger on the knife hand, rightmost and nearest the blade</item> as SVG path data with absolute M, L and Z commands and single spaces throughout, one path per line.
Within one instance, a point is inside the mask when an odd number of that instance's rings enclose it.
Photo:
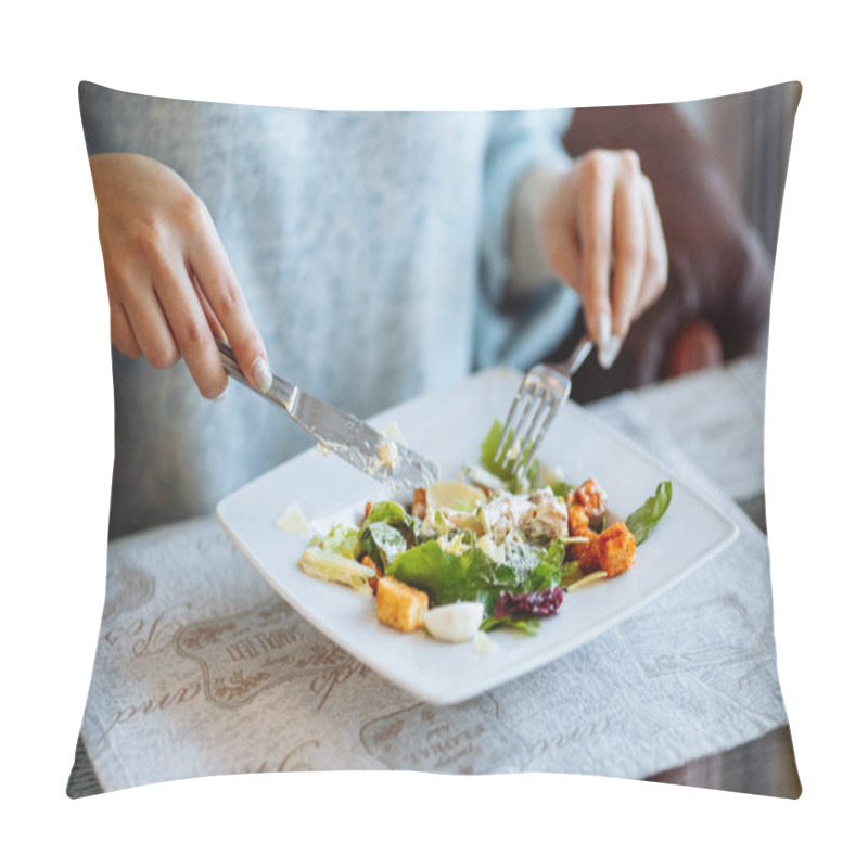
M 271 386 L 271 370 L 263 339 L 214 224 L 208 219 L 201 229 L 191 240 L 189 267 L 199 279 L 244 376 L 267 392 Z

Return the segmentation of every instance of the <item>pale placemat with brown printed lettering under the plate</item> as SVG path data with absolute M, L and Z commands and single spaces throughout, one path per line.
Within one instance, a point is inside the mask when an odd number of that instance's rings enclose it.
M 764 370 L 743 375 L 754 392 L 761 378 L 758 431 L 749 432 L 760 442 L 740 464 L 746 492 L 745 473 L 755 478 L 758 467 L 762 477 Z M 111 544 L 87 757 L 69 794 L 298 769 L 643 778 L 786 724 L 766 537 L 722 490 L 726 481 L 700 474 L 654 424 L 651 404 L 626 393 L 592 409 L 717 502 L 739 539 L 620 626 L 459 705 L 421 703 L 332 644 L 214 519 Z

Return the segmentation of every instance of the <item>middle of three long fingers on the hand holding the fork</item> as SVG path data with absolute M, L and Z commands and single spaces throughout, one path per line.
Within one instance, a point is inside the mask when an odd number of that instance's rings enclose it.
M 615 187 L 612 234 L 612 331 L 623 343 L 639 298 L 647 243 L 639 164 L 634 155 L 623 157 L 621 177 Z

